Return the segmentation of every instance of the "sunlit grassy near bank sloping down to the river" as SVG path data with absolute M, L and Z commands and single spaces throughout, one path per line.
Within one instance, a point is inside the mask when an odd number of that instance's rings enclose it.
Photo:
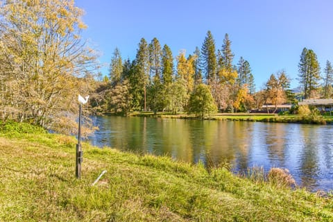
M 88 144 L 76 180 L 75 144 L 25 124 L 0 130 L 0 221 L 333 220 L 330 195 Z

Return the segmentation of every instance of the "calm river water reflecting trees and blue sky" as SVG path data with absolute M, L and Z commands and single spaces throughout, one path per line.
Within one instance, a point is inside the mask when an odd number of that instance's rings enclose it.
M 298 185 L 333 189 L 333 126 L 145 117 L 96 117 L 95 125 L 95 146 L 206 165 L 227 160 L 238 172 L 282 167 Z

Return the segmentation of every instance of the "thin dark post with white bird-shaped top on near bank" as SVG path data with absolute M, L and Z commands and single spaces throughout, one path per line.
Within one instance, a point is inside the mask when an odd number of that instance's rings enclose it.
M 89 96 L 83 99 L 82 96 L 78 95 L 79 114 L 78 114 L 78 144 L 76 144 L 76 164 L 75 164 L 75 176 L 80 179 L 81 177 L 81 163 L 83 162 L 83 150 L 81 147 L 81 116 L 82 116 L 82 104 L 87 103 Z

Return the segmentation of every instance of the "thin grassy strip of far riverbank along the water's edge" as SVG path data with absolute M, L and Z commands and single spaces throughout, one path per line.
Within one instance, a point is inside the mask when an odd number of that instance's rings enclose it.
M 332 124 L 333 117 L 321 116 L 316 117 L 300 116 L 300 115 L 278 115 L 266 113 L 217 113 L 212 116 L 198 117 L 194 114 L 171 114 L 168 112 L 132 112 L 132 117 L 157 117 L 157 118 L 173 118 L 173 119 L 208 119 L 221 121 L 252 121 L 252 122 L 268 122 L 268 123 L 310 123 L 310 124 Z

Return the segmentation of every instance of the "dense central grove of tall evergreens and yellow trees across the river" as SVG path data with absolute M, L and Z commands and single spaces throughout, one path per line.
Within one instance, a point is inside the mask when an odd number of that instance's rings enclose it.
M 142 38 L 135 60 L 123 60 L 114 49 L 110 73 L 96 89 L 92 106 L 99 112 L 125 113 L 248 110 L 255 103 L 254 77 L 247 60 L 240 58 L 235 66 L 233 58 L 228 34 L 216 51 L 208 31 L 201 49 L 196 47 L 188 56 L 180 51 L 176 62 L 167 44 L 162 47 L 157 38 L 150 43 Z

